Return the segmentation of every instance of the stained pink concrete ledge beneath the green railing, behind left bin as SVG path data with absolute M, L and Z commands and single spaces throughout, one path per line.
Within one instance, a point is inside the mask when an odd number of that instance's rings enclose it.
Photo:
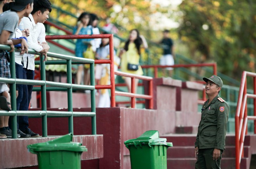
M 30 153 L 27 145 L 42 143 L 59 137 L 0 139 L 0 168 L 37 166 L 37 155 Z M 103 158 L 103 135 L 75 135 L 73 142 L 82 143 L 87 148 L 87 152 L 81 154 L 81 160 Z

